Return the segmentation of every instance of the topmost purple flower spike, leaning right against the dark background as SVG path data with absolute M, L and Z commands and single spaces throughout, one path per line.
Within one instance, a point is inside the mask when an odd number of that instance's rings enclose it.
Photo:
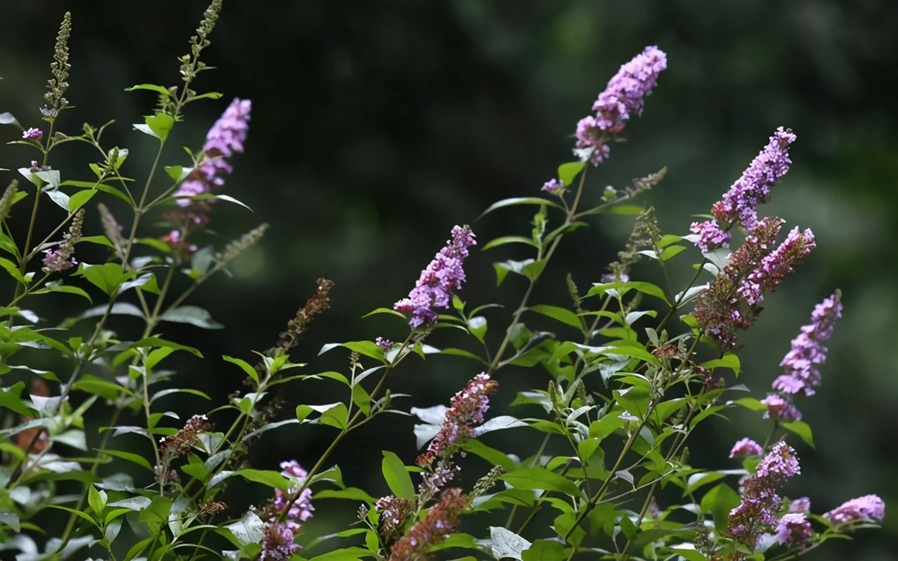
M 641 115 L 644 99 L 658 83 L 658 75 L 667 67 L 667 55 L 657 47 L 647 47 L 608 82 L 593 103 L 595 116 L 577 122 L 574 153 L 593 165 L 608 158 L 608 142 L 619 135 L 630 116 Z M 545 187 L 543 187 L 545 189 Z

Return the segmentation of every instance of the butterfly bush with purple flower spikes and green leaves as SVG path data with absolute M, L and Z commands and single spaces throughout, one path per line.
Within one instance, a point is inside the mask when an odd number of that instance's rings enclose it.
M 348 353 L 346 372 L 318 372 L 292 360 L 299 337 L 330 307 L 333 283 L 322 278 L 269 349 L 205 357 L 210 368 L 245 374 L 249 391 L 201 411 L 163 407 L 172 393 L 207 398 L 181 387 L 181 374 L 168 367 L 174 353 L 202 357 L 166 337 L 170 324 L 219 327 L 210 312 L 187 303 L 189 296 L 265 232 L 263 224 L 223 247 L 205 245 L 202 236 L 221 201 L 237 202 L 226 194 L 238 190 L 228 175 L 240 165 L 251 101 L 223 104 L 222 117 L 198 149 L 189 149 L 189 159 L 168 142 L 187 105 L 222 98 L 193 89 L 207 69 L 200 56 L 220 10 L 216 0 L 204 14 L 189 53 L 179 59 L 178 85 L 130 88 L 157 96 L 151 114 L 134 126 L 135 145 L 149 136 L 155 153 L 145 176 L 128 177 L 128 148 L 104 143 L 110 124 L 64 132 L 71 109 L 68 14 L 39 112 L 22 121 L 0 115 L 10 126 L 5 130 L 21 132 L 13 144 L 35 154 L 30 164 L 12 164 L 19 167 L 5 174 L 0 197 L 4 555 L 779 560 L 882 521 L 885 506 L 876 495 L 846 497 L 822 513 L 811 497 L 783 490 L 802 469 L 813 469 L 800 460 L 813 446 L 807 423 L 813 419 L 798 407 L 821 385 L 825 343 L 842 311 L 838 290 L 820 295 L 806 325 L 795 321 L 797 336 L 770 390 L 746 393 L 741 383 L 757 385 L 739 360 L 757 351 L 743 348 L 738 337 L 815 246 L 810 230 L 795 226 L 782 236 L 786 221 L 762 213 L 792 164 L 788 151 L 796 135 L 773 131 L 708 219 L 683 223 L 681 232 L 662 232 L 647 201 L 666 170 L 604 188 L 598 206 L 585 205 L 610 145 L 663 85 L 667 57 L 656 47 L 621 66 L 593 113 L 577 123 L 576 161 L 562 163 L 541 192 L 534 187 L 500 201 L 481 218 L 509 206 L 532 207 L 524 233 L 488 241 L 471 226 L 454 226 L 408 296 L 373 312 L 395 316 L 389 333 L 321 349 Z M 58 170 L 56 150 L 69 142 L 91 146 L 96 160 Z M 27 229 L 13 228 L 7 220 L 13 212 L 31 216 Z M 578 285 L 568 276 L 562 286 L 568 307 L 535 302 L 533 287 L 562 241 L 584 236 L 575 231 L 609 213 L 634 216 L 618 259 L 600 278 L 578 279 Z M 465 261 L 503 245 L 518 248 L 520 259 L 494 263 L 495 282 L 517 291 L 520 303 L 506 310 L 465 302 L 465 283 L 494 282 L 468 279 Z M 655 285 L 632 276 L 638 261 L 665 272 L 691 267 L 694 274 L 688 285 Z M 68 319 L 53 325 L 31 308 L 57 293 L 68 298 Z M 140 318 L 142 328 L 121 316 Z M 528 328 L 540 321 L 556 323 L 558 333 Z M 428 344 L 435 329 L 446 327 L 453 328 L 456 346 Z M 41 370 L 40 354 L 65 366 Z M 393 395 L 393 371 L 427 375 L 421 372 L 426 363 L 414 363 L 432 354 L 457 361 L 460 390 L 431 407 Z M 505 391 L 509 367 L 536 369 L 542 382 L 497 411 L 490 400 Z M 277 386 L 287 383 L 331 384 L 342 399 L 276 407 Z M 708 445 L 690 438 L 697 427 L 738 408 L 753 412 L 751 434 L 729 452 L 705 451 L 719 459 L 713 467 L 693 465 L 687 444 Z M 330 457 L 358 427 L 388 422 L 387 412 L 418 419 L 408 437 L 420 452 L 401 457 L 384 440 L 383 457 L 367 467 L 383 473 L 390 494 L 372 495 L 344 481 Z M 100 430 L 86 429 L 88 421 Z M 248 451 L 269 430 L 321 431 L 330 446 L 320 455 L 279 459 L 280 469 L 254 468 Z M 509 436 L 485 440 L 502 443 L 499 448 L 480 439 L 498 431 Z M 250 504 L 226 494 L 239 479 L 267 498 Z M 347 502 L 357 515 L 333 533 L 306 531 L 306 522 L 329 509 L 331 518 L 342 516 L 339 504 Z

